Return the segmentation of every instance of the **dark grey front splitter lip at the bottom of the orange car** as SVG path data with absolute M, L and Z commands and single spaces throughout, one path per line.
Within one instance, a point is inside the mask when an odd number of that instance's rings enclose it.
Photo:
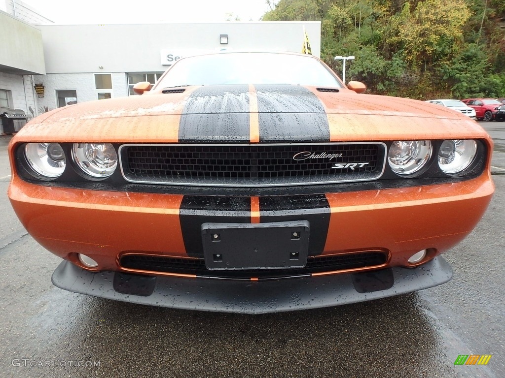
M 125 302 L 258 314 L 385 298 L 437 286 L 451 277 L 449 264 L 439 256 L 417 268 L 265 281 L 89 272 L 63 261 L 53 273 L 52 282 L 75 293 Z

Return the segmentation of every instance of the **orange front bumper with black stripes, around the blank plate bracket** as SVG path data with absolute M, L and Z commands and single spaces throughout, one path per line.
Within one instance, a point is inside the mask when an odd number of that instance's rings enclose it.
M 480 220 L 493 191 L 485 173 L 420 187 L 246 198 L 245 207 L 237 210 L 234 198 L 209 196 L 200 204 L 192 196 L 44 187 L 14 176 L 9 197 L 30 235 L 55 255 L 79 265 L 76 254 L 85 254 L 98 262 L 96 271 L 127 272 L 118 263 L 126 253 L 203 258 L 200 227 L 206 222 L 308 220 L 314 244 L 310 256 L 383 250 L 391 256 L 390 266 L 408 266 L 407 260 L 422 249 L 443 253 L 461 241 Z M 220 205 L 223 199 L 227 206 Z

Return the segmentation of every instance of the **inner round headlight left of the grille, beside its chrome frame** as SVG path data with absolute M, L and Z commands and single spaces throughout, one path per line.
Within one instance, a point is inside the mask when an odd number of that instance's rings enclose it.
M 72 158 L 87 175 L 109 177 L 118 165 L 118 155 L 110 143 L 74 143 Z

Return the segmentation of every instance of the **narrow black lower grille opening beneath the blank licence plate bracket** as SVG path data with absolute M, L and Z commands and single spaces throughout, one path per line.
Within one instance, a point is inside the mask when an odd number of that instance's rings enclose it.
M 261 269 L 261 270 L 208 270 L 203 259 L 183 259 L 149 255 L 125 255 L 120 259 L 124 268 L 149 272 L 194 274 L 197 276 L 249 279 L 281 278 L 311 273 L 332 272 L 345 269 L 374 267 L 384 264 L 387 255 L 380 251 L 369 251 L 345 255 L 309 257 L 307 266 L 301 269 Z

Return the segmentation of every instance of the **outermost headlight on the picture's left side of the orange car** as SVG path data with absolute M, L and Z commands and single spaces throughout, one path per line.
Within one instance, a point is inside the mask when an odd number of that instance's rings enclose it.
M 67 163 L 58 143 L 27 143 L 25 156 L 30 168 L 47 180 L 60 177 Z

